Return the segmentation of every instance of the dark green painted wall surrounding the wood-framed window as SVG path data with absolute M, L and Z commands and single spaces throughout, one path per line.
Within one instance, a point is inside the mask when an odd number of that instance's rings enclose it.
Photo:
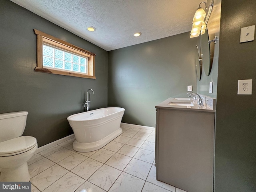
M 82 112 L 84 93 L 95 92 L 91 108 L 107 106 L 108 52 L 14 4 L 0 1 L 0 113 L 28 111 L 24 135 L 43 146 L 72 134 L 66 118 Z M 36 28 L 96 54 L 96 80 L 34 72 Z

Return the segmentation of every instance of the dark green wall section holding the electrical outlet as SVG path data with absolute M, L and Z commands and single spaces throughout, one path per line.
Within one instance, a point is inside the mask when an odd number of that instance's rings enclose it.
M 256 24 L 255 10 L 255 0 L 222 1 L 215 192 L 256 191 L 256 40 L 240 43 L 240 29 Z M 253 79 L 252 95 L 237 95 L 239 79 Z

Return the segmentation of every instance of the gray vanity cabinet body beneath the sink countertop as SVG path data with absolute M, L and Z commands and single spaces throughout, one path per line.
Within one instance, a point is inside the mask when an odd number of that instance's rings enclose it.
M 156 106 L 156 179 L 213 192 L 215 112 Z

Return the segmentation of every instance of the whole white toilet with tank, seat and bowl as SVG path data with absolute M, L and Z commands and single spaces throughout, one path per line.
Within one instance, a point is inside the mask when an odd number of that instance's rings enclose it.
M 27 182 L 28 160 L 37 149 L 36 138 L 22 136 L 28 112 L 0 114 L 0 182 Z

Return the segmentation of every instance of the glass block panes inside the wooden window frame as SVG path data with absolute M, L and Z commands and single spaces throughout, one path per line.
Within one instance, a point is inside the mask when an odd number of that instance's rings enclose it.
M 43 44 L 43 66 L 87 74 L 88 58 Z

